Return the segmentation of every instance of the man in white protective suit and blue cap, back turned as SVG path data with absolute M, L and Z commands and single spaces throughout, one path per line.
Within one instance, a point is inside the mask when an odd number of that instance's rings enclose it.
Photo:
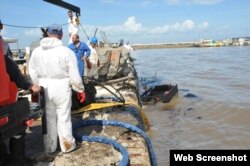
M 44 87 L 45 92 L 45 154 L 56 152 L 58 137 L 62 152 L 71 152 L 76 147 L 72 136 L 71 86 L 81 102 L 85 100 L 84 86 L 74 52 L 61 41 L 62 28 L 53 24 L 47 30 L 48 37 L 40 41 L 31 55 L 29 73 L 32 81 Z

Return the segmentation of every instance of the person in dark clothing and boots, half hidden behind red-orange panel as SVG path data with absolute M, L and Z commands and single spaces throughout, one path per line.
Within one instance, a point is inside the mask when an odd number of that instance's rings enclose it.
M 0 20 L 0 30 L 3 29 L 3 24 Z M 41 88 L 38 85 L 28 82 L 21 74 L 17 64 L 10 58 L 10 49 L 8 44 L 2 39 L 0 35 L 0 44 L 3 46 L 3 54 L 5 59 L 6 71 L 18 88 L 24 90 L 31 90 L 33 93 L 39 93 Z M 7 147 L 5 143 L 0 145 L 0 165 L 11 165 L 11 166 L 31 166 L 34 161 L 25 156 L 25 130 L 21 131 L 17 135 L 13 136 L 9 140 L 10 160 L 6 156 Z

